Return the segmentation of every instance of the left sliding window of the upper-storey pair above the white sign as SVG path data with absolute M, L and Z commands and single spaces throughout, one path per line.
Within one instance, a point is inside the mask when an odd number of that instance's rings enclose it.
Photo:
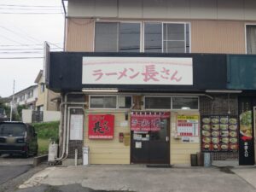
M 140 52 L 140 23 L 96 22 L 96 52 Z

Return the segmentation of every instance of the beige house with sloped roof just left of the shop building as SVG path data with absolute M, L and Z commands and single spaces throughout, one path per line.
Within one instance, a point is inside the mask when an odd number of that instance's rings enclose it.
M 48 90 L 43 79 L 43 70 L 40 70 L 35 83 L 38 84 L 38 100 L 36 110 L 38 111 L 59 111 L 60 94 Z

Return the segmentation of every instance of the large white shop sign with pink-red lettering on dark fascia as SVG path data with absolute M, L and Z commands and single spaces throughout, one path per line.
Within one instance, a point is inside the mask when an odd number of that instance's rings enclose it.
M 83 57 L 82 84 L 193 85 L 189 57 Z

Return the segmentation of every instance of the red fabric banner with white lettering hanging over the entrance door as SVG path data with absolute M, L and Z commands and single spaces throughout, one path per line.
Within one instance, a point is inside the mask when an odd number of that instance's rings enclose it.
M 169 112 L 132 112 L 131 131 L 160 131 L 160 119 L 166 118 Z

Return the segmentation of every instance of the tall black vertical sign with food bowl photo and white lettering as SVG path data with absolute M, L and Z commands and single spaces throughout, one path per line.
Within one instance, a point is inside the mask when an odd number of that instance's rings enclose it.
M 253 112 L 250 100 L 240 103 L 239 165 L 254 165 Z

